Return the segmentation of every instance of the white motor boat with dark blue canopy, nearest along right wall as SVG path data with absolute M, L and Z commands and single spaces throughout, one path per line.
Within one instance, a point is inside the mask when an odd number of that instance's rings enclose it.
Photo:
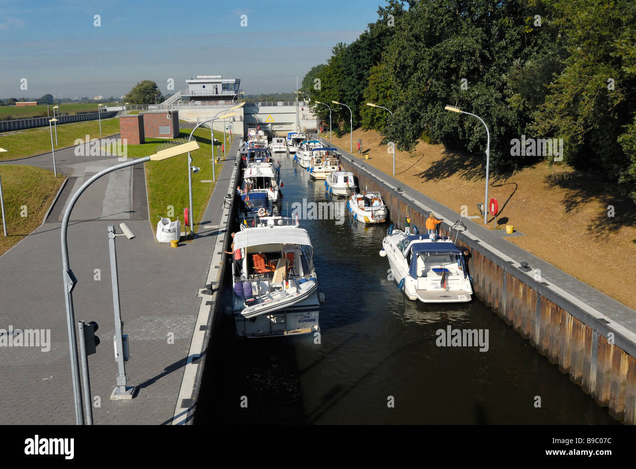
M 391 225 L 380 255 L 389 259 L 391 275 L 408 299 L 424 303 L 471 301 L 473 287 L 466 259 L 451 240 L 407 235 Z

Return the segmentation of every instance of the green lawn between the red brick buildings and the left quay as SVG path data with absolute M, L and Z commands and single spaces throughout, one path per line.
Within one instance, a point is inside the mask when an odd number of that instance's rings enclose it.
M 179 138 L 188 139 L 190 132 L 181 132 Z M 194 214 L 194 228 L 198 231 L 198 225 L 204 214 L 205 207 L 212 195 L 214 182 L 201 182 L 202 180 L 212 180 L 212 146 L 210 141 L 210 130 L 199 128 L 194 134 L 200 149 L 191 153 L 192 165 L 201 168 L 200 171 L 192 175 L 192 211 Z M 214 138 L 223 141 L 223 132 L 214 132 Z M 156 146 L 165 143 L 166 139 L 147 139 L 141 145 L 128 145 L 128 158 L 139 158 L 156 153 Z M 218 156 L 221 149 L 216 146 L 215 154 Z M 183 227 L 183 209 L 190 205 L 188 193 L 188 155 L 174 156 L 168 160 L 152 161 L 145 163 L 146 167 L 146 187 L 148 188 L 148 205 L 150 209 L 150 224 L 156 228 L 159 221 L 157 215 L 163 217 L 168 215 L 170 206 L 173 207 L 174 215 L 170 219 L 179 217 Z M 221 165 L 215 165 L 216 177 L 221 173 Z

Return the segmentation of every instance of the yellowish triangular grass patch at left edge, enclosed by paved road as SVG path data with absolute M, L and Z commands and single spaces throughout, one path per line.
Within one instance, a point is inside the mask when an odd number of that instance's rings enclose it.
M 49 170 L 20 165 L 0 166 L 0 177 L 7 234 L 5 238 L 0 231 L 0 254 L 4 254 L 40 226 L 64 178 L 54 177 Z

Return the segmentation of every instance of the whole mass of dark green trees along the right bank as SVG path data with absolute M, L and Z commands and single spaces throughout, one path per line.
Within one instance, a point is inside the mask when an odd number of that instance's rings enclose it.
M 545 157 L 511 151 L 514 139 L 563 139 L 565 164 L 636 201 L 636 2 L 407 3 L 380 7 L 356 41 L 307 73 L 302 91 L 331 105 L 347 131 L 349 111 L 332 100 L 351 107 L 354 128 L 375 128 L 398 149 L 425 139 L 485 158 L 483 125 L 444 110 L 456 105 L 487 123 L 499 173 Z

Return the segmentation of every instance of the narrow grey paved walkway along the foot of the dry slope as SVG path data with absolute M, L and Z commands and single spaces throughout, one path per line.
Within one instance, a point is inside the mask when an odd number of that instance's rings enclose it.
M 334 147 L 336 146 L 334 145 Z M 375 177 L 387 184 L 387 186 L 392 189 L 401 187 L 404 196 L 422 208 L 422 212 L 434 212 L 438 218 L 445 221 L 449 226 L 459 220 L 459 213 L 432 200 L 432 198 L 407 186 L 404 182 L 395 179 L 391 175 L 378 170 L 371 166 L 368 161 L 357 158 L 340 147 L 336 148 L 340 150 L 344 158 L 359 167 L 366 167 L 367 172 L 375 175 Z M 544 282 L 549 283 L 548 289 L 553 290 L 564 299 L 576 304 L 576 306 L 584 309 L 584 311 L 590 313 L 595 318 L 599 318 L 602 322 L 609 320 L 609 323 L 607 323 L 609 329 L 616 330 L 632 341 L 632 343 L 636 343 L 636 311 L 506 240 L 504 236 L 508 237 L 511 235 L 506 235 L 504 230 L 495 231 L 484 228 L 483 225 L 481 225 L 483 219 L 469 220 L 464 218 L 462 221 L 466 224 L 467 230 L 470 233 L 501 252 L 504 258 L 508 256 L 518 263 L 528 262 L 532 270 L 530 270 L 527 275 L 532 277 L 534 275 L 534 269 L 541 269 L 541 278 Z M 518 235 L 520 235 L 520 233 L 513 236 Z M 625 279 L 625 281 L 629 280 Z M 603 318 L 603 316 L 605 316 L 605 318 Z

